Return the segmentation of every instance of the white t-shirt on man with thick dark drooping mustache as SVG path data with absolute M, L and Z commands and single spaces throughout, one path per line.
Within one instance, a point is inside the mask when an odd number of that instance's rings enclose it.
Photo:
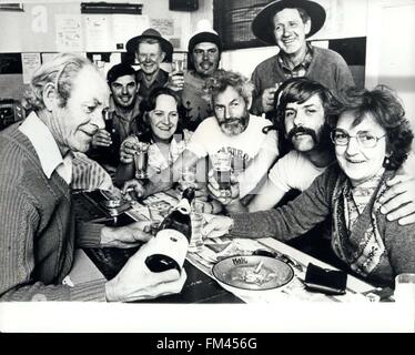
M 291 189 L 304 191 L 326 168 L 315 166 L 302 153 L 293 150 L 274 164 L 269 178 L 281 191 L 289 192 Z

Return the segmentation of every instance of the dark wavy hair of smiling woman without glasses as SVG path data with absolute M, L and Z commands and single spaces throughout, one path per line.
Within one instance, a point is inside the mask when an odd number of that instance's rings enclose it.
M 155 88 L 153 89 L 148 100 L 143 100 L 140 102 L 140 115 L 135 121 L 135 131 L 139 132 L 140 141 L 151 143 L 152 142 L 152 131 L 151 125 L 149 123 L 149 113 L 155 109 L 156 100 L 160 95 L 169 95 L 174 99 L 178 104 L 178 113 L 179 113 L 179 122 L 178 129 L 175 130 L 174 135 L 183 136 L 183 108 L 182 108 L 182 100 L 180 95 L 170 88 Z

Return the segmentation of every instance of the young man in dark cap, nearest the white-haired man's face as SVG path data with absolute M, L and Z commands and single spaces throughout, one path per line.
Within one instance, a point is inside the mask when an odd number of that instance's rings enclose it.
M 105 116 L 105 129 L 92 139 L 89 155 L 103 165 L 117 166 L 120 161 L 121 142 L 131 133 L 132 124 L 140 114 L 140 84 L 135 70 L 126 63 L 113 65 L 107 73 L 111 90 L 110 108 Z M 109 132 L 110 131 L 110 132 Z

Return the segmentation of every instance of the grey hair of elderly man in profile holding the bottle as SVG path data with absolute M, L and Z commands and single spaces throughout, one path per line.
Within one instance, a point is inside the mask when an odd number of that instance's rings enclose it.
M 81 55 L 73 53 L 61 53 L 51 61 L 41 65 L 30 81 L 28 90 L 24 92 L 24 99 L 33 111 L 44 109 L 43 91 L 47 84 L 51 83 L 59 94 L 59 104 L 64 108 L 71 95 L 73 80 L 77 74 L 92 62 Z

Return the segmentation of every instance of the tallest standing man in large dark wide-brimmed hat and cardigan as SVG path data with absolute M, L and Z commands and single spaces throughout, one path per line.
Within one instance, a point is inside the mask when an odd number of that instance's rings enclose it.
M 354 85 L 347 63 L 337 52 L 306 42 L 306 38 L 323 27 L 325 18 L 324 8 L 308 0 L 274 1 L 254 18 L 255 37 L 280 49 L 252 73 L 255 90 L 251 111 L 254 114 L 273 110 L 276 89 L 290 78 L 307 77 L 335 94 Z

